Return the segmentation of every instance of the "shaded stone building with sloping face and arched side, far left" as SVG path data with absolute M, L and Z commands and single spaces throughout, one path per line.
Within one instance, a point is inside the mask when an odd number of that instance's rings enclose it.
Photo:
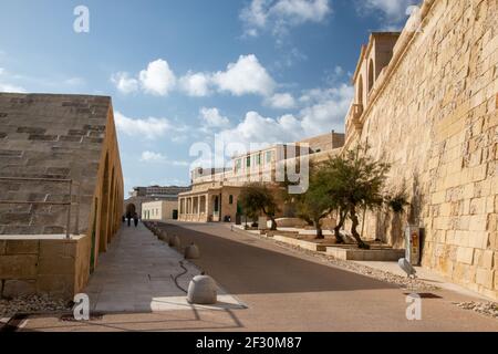
M 31 278 L 19 273 L 19 284 L 31 282 L 31 290 L 68 294 L 82 289 L 123 214 L 111 97 L 0 93 L 0 240 L 28 238 L 25 247 L 32 248 L 18 254 L 9 244 L 15 249 L 22 242 L 7 241 L 7 251 L 0 252 L 3 290 L 13 294 L 15 279 L 9 269 L 22 271 L 24 263 Z M 61 241 L 68 231 L 68 204 L 71 240 Z M 45 250 L 59 247 L 62 251 L 45 261 Z

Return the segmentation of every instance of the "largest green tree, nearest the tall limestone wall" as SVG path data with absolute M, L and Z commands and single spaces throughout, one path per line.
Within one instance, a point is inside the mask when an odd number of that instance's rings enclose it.
M 382 206 L 384 201 L 382 189 L 390 169 L 390 165 L 375 162 L 366 150 L 366 147 L 359 146 L 326 162 L 330 174 L 329 195 L 333 199 L 334 209 L 342 216 L 347 215 L 351 219 L 351 233 L 362 249 L 370 247 L 357 232 L 360 225 L 357 210 L 375 209 Z M 336 235 L 339 230 L 335 230 Z

